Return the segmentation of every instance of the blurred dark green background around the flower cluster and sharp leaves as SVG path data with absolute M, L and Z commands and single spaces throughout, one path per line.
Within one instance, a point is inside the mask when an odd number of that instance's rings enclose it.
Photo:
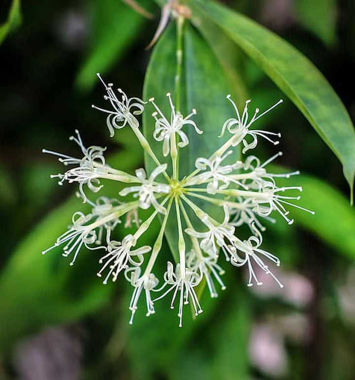
M 103 95 L 97 71 L 142 94 L 160 11 L 137 2 L 152 18 L 120 0 L 26 0 L 0 46 L 0 379 L 354 379 L 355 211 L 340 163 L 289 101 L 267 127 L 283 133 L 280 163 L 307 173 L 318 191 L 305 189 L 307 205 L 317 197 L 328 219 L 319 229 L 309 219 L 268 226 L 282 291 L 267 279 L 247 288 L 246 273 L 229 270 L 227 290 L 213 301 L 204 295 L 206 312 L 185 315 L 183 329 L 163 307 L 129 326 L 129 289 L 102 285 L 96 255 L 69 267 L 59 251 L 40 254 L 82 207 L 73 188 L 49 178 L 62 168 L 43 147 L 75 155 L 68 137 L 78 128 L 88 145 L 107 146 L 112 164 L 142 165 L 132 136 L 109 139 L 91 109 Z M 353 0 L 223 2 L 309 57 L 354 120 Z M 11 3 L 0 2 L 0 23 Z M 260 109 L 282 96 L 248 58 L 240 62 Z

